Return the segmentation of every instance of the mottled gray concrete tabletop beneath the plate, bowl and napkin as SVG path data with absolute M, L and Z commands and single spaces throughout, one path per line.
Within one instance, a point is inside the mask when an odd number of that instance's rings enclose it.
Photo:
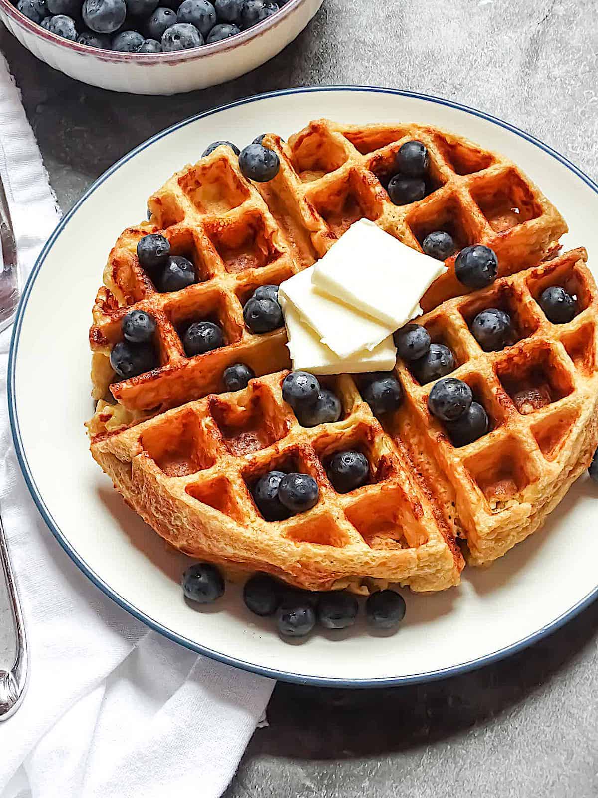
M 160 128 L 238 97 L 310 84 L 450 97 L 532 132 L 598 178 L 593 0 L 326 0 L 261 69 L 167 98 L 91 89 L 36 61 L 6 31 L 0 49 L 65 209 Z M 596 630 L 598 604 L 506 662 L 431 685 L 277 685 L 269 728 L 254 734 L 226 798 L 595 798 Z

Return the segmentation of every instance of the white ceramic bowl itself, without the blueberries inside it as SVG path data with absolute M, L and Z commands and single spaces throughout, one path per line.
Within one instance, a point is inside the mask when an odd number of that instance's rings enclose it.
M 225 41 L 179 53 L 114 53 L 68 41 L 0 0 L 0 18 L 34 56 L 78 81 L 133 94 L 177 94 L 233 80 L 293 41 L 324 0 L 289 0 L 277 14 Z

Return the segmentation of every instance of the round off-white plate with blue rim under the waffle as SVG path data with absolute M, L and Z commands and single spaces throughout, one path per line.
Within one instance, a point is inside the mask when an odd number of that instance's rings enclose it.
M 301 645 L 277 637 L 236 587 L 208 610 L 183 599 L 187 559 L 120 500 L 88 451 L 92 415 L 88 328 L 108 251 L 145 214 L 147 197 L 212 140 L 242 145 L 264 130 L 282 136 L 309 120 L 412 120 L 436 124 L 516 160 L 571 226 L 565 245 L 598 263 L 598 186 L 565 158 L 500 120 L 432 97 L 388 89 L 293 89 L 207 112 L 141 144 L 100 177 L 62 220 L 33 270 L 15 325 L 10 412 L 26 480 L 50 529 L 81 570 L 137 618 L 191 649 L 289 681 L 372 686 L 468 670 L 528 645 L 598 592 L 596 497 L 582 477 L 543 531 L 488 569 L 466 569 L 458 588 L 405 591 L 407 618 L 391 636 L 363 625 L 342 640 L 316 631 Z M 39 334 L 39 321 L 51 335 Z M 45 405 L 41 414 L 40 386 Z M 48 405 L 47 397 L 53 397 Z M 571 556 L 581 552 L 582 556 Z M 337 633 L 335 633 L 337 634 Z

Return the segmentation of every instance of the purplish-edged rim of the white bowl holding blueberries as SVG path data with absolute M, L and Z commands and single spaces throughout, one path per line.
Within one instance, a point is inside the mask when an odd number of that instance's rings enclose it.
M 246 45 L 252 39 L 263 36 L 268 33 L 269 30 L 273 30 L 279 26 L 286 17 L 289 17 L 293 14 L 293 11 L 297 10 L 299 6 L 304 5 L 306 2 L 308 2 L 308 0 L 288 0 L 275 14 L 262 20 L 262 22 L 258 22 L 257 25 L 247 30 L 242 30 L 240 34 L 235 34 L 223 41 L 214 41 L 214 43 L 210 45 L 179 50 L 175 53 L 120 53 L 115 50 L 104 50 L 98 47 L 90 47 L 89 45 L 81 45 L 77 41 L 70 41 L 57 34 L 53 34 L 49 30 L 45 30 L 45 28 L 42 28 L 37 22 L 33 22 L 30 18 L 26 17 L 16 6 L 13 6 L 10 0 L 0 0 L 0 10 L 34 36 L 49 41 L 64 49 L 72 50 L 75 53 L 81 53 L 81 55 L 93 55 L 98 61 L 137 64 L 178 64 L 182 61 L 207 58 L 210 55 L 214 55 L 214 53 L 222 53 Z

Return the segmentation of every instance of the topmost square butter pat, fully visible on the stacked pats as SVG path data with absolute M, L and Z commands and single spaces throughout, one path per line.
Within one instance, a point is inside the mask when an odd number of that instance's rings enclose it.
M 397 330 L 445 271 L 438 260 L 360 219 L 313 267 L 312 282 L 318 291 Z

